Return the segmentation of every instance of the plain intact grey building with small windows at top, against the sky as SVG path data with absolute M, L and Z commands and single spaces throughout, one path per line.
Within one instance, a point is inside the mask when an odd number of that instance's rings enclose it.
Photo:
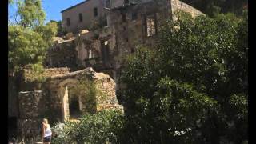
M 94 25 L 106 23 L 105 0 L 86 0 L 62 10 L 62 27 L 67 32 L 77 33 Z

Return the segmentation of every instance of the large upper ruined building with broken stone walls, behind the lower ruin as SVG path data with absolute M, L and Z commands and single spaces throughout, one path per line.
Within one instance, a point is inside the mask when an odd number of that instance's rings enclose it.
M 107 25 L 86 33 L 80 30 L 75 38 L 56 42 L 48 52 L 46 66 L 68 66 L 74 70 L 92 66 L 96 71 L 110 74 L 119 89 L 122 59 L 139 45 L 153 46 L 160 22 L 166 18 L 175 19 L 177 10 L 186 11 L 193 17 L 202 14 L 178 0 L 106 2 L 110 2 L 110 9 L 105 13 Z

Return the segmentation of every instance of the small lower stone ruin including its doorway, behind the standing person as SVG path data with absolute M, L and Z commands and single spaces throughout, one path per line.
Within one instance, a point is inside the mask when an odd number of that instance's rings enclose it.
M 75 72 L 67 68 L 46 69 L 45 73 L 45 82 L 34 82 L 30 81 L 30 70 L 24 70 L 23 91 L 18 92 L 17 127 L 26 137 L 39 134 L 42 118 L 53 123 L 101 110 L 122 110 L 115 95 L 115 82 L 107 74 L 96 73 L 92 68 Z M 93 84 L 95 87 L 90 87 Z

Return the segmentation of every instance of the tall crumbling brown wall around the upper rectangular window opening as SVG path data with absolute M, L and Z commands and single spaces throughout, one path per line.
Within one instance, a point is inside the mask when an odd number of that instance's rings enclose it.
M 146 17 L 155 14 L 155 25 L 170 16 L 167 1 L 150 1 L 130 4 L 110 10 L 108 24 L 113 29 L 116 46 L 113 55 L 114 80 L 119 89 L 119 74 L 122 69 L 123 59 L 132 54 L 137 46 L 154 46 L 156 35 L 147 37 Z M 156 27 L 158 31 L 158 27 Z

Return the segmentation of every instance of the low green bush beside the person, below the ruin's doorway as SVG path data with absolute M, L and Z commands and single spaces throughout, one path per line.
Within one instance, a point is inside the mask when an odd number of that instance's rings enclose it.
M 117 110 L 107 110 L 97 114 L 86 114 L 80 122 L 65 122 L 54 126 L 58 135 L 53 143 L 106 143 L 117 142 L 117 134 L 122 129 L 122 114 Z

